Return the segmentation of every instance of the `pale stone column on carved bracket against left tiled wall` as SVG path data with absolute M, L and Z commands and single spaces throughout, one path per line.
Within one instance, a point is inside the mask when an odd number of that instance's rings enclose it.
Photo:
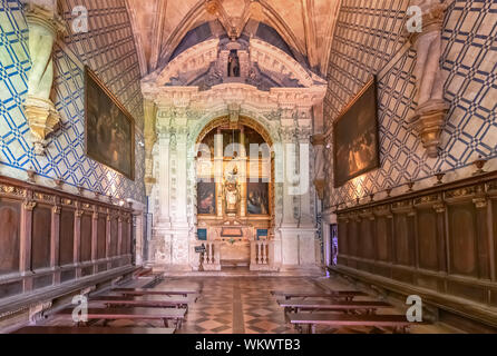
M 45 155 L 46 138 L 60 121 L 60 116 L 50 100 L 53 85 L 52 47 L 58 32 L 65 32 L 65 23 L 57 13 L 52 0 L 26 0 L 25 13 L 29 28 L 29 55 L 31 70 L 28 73 L 28 95 L 25 112 L 31 130 L 37 155 Z

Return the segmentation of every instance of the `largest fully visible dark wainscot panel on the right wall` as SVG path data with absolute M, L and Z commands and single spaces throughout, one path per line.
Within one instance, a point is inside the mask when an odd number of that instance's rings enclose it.
M 476 227 L 472 202 L 449 207 L 451 273 L 476 276 Z

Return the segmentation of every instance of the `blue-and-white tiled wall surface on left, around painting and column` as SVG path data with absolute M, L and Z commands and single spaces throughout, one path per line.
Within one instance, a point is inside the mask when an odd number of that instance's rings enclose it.
M 135 118 L 136 142 L 143 141 L 140 73 L 125 0 L 61 1 L 69 34 L 53 50 L 52 98 L 62 122 L 49 140 L 47 156 L 35 156 L 22 112 L 30 70 L 26 19 L 18 0 L 0 0 L 0 174 L 25 178 L 35 169 L 46 178 L 118 198 L 145 200 L 144 150 L 136 147 L 136 180 L 130 181 L 85 155 L 84 71 L 92 68 Z M 89 31 L 72 33 L 72 8 L 89 11 Z M 2 172 L 2 166 L 10 168 Z M 13 170 L 12 170 L 13 169 Z M 18 174 L 12 174 L 17 171 Z

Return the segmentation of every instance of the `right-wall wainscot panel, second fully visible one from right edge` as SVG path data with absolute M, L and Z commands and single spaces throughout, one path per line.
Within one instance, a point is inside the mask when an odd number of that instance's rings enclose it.
M 418 210 L 419 267 L 438 269 L 437 215 L 433 209 Z

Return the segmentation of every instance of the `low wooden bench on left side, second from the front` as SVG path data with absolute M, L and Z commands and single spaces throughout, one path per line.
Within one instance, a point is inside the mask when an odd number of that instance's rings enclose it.
M 60 315 L 71 317 L 72 308 L 60 312 Z M 80 323 L 87 325 L 98 320 L 163 320 L 165 327 L 169 327 L 169 320 L 175 323 L 178 329 L 185 319 L 185 309 L 157 309 L 157 308 L 88 308 L 88 322 Z

